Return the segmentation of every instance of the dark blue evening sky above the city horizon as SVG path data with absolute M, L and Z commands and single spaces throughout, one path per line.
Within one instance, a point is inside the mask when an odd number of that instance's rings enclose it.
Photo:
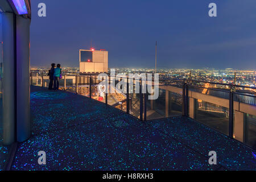
M 47 17 L 39 18 L 38 4 Z M 208 5 L 217 4 L 217 18 Z M 256 69 L 255 0 L 32 0 L 31 65 L 79 67 L 79 49 L 109 67 Z

